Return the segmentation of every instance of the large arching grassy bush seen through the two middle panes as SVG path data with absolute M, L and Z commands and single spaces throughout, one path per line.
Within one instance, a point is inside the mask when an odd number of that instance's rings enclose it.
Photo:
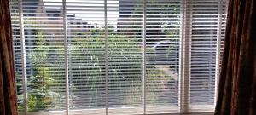
M 86 90 L 89 90 L 90 103 L 89 106 L 101 105 L 100 102 L 96 102 L 102 98 L 102 87 L 99 87 L 99 82 L 105 83 L 105 39 L 102 29 L 91 30 L 90 33 L 84 34 L 84 37 L 73 38 L 71 40 L 70 49 L 70 62 L 77 64 L 76 68 L 70 70 L 73 74 L 73 83 L 83 84 Z M 118 86 L 117 91 L 120 95 L 125 95 L 122 90 L 122 81 L 129 81 L 136 79 L 130 74 L 125 72 L 128 69 L 134 69 L 134 66 L 129 67 L 129 63 L 135 63 L 137 70 L 142 70 L 142 50 L 140 44 L 137 42 L 137 38 L 127 37 L 122 34 L 113 33 L 108 34 L 108 64 L 114 65 L 115 61 L 126 63 L 127 67 L 112 66 L 109 68 L 109 85 L 114 84 Z M 134 54 L 136 53 L 136 54 Z M 119 59 L 119 60 L 118 60 Z M 121 59 L 121 60 L 120 60 Z M 84 72 L 86 68 L 86 72 Z M 78 72 L 80 75 L 78 75 Z M 140 78 L 140 76 L 137 76 Z M 83 80 L 86 79 L 86 80 Z M 81 81 L 83 81 L 81 83 Z M 129 84 L 131 92 L 138 92 L 139 85 L 134 84 L 138 81 Z M 135 87 L 136 86 L 136 87 Z M 74 84 L 74 88 L 76 85 Z M 127 90 L 126 90 L 127 91 Z M 129 92 L 129 91 L 127 91 Z M 139 94 L 137 94 L 139 95 Z

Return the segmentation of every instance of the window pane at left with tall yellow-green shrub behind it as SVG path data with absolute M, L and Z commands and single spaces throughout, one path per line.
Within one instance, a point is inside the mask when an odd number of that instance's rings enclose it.
M 22 1 L 23 21 L 21 23 L 23 23 L 25 38 L 24 62 L 26 65 L 24 69 L 26 69 L 28 112 L 62 110 L 65 107 L 62 3 L 61 0 L 55 0 L 55 3 L 51 2 Z M 51 6 L 54 6 L 54 12 L 52 12 Z M 56 20 L 51 20 L 50 14 L 58 15 L 55 17 Z M 17 32 L 17 34 L 19 33 Z M 22 44 L 15 43 L 15 47 L 17 47 L 15 55 L 20 57 Z M 20 61 L 21 59 L 20 57 L 15 60 Z M 19 65 L 15 65 L 15 67 L 19 68 L 16 69 L 16 78 L 17 80 L 21 79 L 20 70 L 23 68 L 20 68 Z M 19 92 L 20 85 L 18 88 Z M 18 103 L 20 101 L 23 102 L 21 98 Z M 24 108 L 24 106 L 19 104 L 19 108 Z

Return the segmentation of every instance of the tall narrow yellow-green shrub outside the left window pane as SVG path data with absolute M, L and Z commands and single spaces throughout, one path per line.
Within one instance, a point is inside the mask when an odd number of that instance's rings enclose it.
M 50 95 L 54 94 L 49 85 L 54 83 L 54 76 L 49 68 L 49 44 L 44 34 L 38 32 L 36 36 L 36 47 L 29 54 L 32 60 L 32 77 L 28 83 L 28 111 L 40 111 L 49 109 L 53 102 Z

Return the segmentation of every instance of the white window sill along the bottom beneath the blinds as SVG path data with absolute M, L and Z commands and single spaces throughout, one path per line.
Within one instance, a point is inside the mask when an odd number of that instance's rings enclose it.
M 213 106 L 193 106 L 188 113 L 178 113 L 178 106 L 147 107 L 147 115 L 213 115 Z M 69 110 L 70 115 L 104 115 L 106 109 L 76 109 Z M 143 115 L 142 108 L 109 108 L 110 115 Z M 27 115 L 65 115 L 66 111 L 28 112 Z M 20 113 L 19 115 L 23 115 Z

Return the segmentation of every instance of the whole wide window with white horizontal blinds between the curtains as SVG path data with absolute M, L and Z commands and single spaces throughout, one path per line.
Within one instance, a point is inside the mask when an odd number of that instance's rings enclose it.
M 225 0 L 10 0 L 20 113 L 212 112 Z

